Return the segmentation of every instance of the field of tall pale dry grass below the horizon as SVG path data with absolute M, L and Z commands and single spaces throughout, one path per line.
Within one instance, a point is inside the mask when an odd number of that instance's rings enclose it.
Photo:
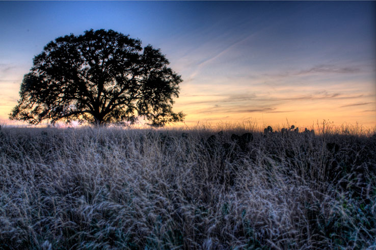
M 375 249 L 376 135 L 324 129 L 3 126 L 0 249 Z

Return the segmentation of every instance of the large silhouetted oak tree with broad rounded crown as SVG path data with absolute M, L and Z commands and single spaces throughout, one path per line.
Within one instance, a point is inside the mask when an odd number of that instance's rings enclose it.
M 33 62 L 10 119 L 104 124 L 144 117 L 153 126 L 183 120 L 172 111 L 180 76 L 159 49 L 142 48 L 129 35 L 89 30 L 59 37 Z

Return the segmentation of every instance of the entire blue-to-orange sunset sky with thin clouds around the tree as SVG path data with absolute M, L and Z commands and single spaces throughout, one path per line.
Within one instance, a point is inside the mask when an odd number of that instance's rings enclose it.
M 160 48 L 185 123 L 376 126 L 376 2 L 0 1 L 0 123 L 51 40 L 112 29 Z

